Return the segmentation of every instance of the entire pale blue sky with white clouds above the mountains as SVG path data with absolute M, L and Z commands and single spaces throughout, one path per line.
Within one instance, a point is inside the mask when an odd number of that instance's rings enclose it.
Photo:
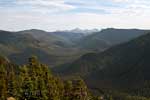
M 0 0 L 0 29 L 150 29 L 150 0 Z

